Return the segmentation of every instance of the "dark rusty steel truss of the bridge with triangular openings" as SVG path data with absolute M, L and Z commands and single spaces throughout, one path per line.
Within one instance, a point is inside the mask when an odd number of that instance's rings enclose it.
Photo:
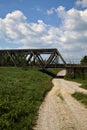
M 45 57 L 45 59 L 44 59 Z M 61 61 L 61 62 L 60 62 Z M 40 68 L 65 67 L 66 62 L 57 49 L 0 50 L 0 66 L 39 66 Z

